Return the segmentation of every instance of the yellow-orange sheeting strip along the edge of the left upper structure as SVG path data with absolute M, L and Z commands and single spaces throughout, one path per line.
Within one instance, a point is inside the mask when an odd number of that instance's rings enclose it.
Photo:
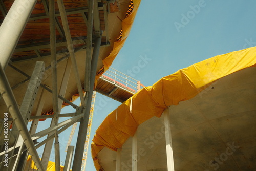
M 140 5 L 140 1 L 141 0 L 133 0 L 134 8 L 133 8 L 132 13 L 128 17 L 126 17 L 125 19 L 122 20 L 122 39 L 121 39 L 121 41 L 114 42 L 114 46 L 113 46 L 112 52 L 110 53 L 110 55 L 108 57 L 103 59 L 102 62 L 103 62 L 103 66 L 105 67 L 104 71 L 109 69 L 109 67 L 111 66 L 112 62 L 116 58 L 117 54 L 119 53 L 119 51 L 123 47 L 123 44 L 126 41 L 126 38 L 128 37 L 128 35 L 129 35 L 130 31 L 131 31 L 131 28 L 132 28 L 132 25 L 133 25 L 136 13 L 137 13 L 139 5 Z M 102 74 L 103 74 L 103 72 L 100 75 L 97 75 L 95 77 L 94 88 L 96 88 L 98 79 L 99 79 L 99 77 Z

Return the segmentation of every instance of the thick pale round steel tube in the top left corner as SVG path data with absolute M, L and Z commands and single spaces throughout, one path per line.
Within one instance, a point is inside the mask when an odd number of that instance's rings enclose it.
M 6 68 L 37 0 L 15 0 L 0 26 L 0 65 Z

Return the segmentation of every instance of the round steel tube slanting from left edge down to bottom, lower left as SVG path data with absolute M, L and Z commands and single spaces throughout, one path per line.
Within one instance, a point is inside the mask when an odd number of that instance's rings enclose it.
M 22 114 L 19 111 L 17 102 L 11 90 L 10 84 L 8 79 L 4 73 L 2 66 L 0 65 L 0 93 L 3 95 L 3 99 L 11 113 L 12 118 L 15 121 L 15 124 L 20 131 L 20 135 L 24 139 L 24 144 L 29 150 L 29 153 L 32 156 L 32 159 L 35 161 L 35 165 L 39 171 L 45 171 L 44 166 L 42 165 L 39 156 L 36 152 L 36 148 L 34 143 L 30 137 L 29 131 L 27 129 L 27 125 L 22 117 Z

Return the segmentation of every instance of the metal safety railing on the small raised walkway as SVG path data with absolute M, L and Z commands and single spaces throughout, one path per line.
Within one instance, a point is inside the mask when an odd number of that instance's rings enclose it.
M 117 71 L 112 67 L 110 67 L 109 70 L 107 70 L 102 76 L 100 76 L 100 79 L 108 81 L 114 84 L 116 87 L 119 87 L 132 94 L 135 94 L 140 89 L 145 87 L 143 84 L 140 83 L 140 81 L 124 73 L 121 73 L 120 71 Z

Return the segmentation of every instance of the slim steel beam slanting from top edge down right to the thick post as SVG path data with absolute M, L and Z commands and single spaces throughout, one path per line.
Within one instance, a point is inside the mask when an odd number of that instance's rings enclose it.
M 72 38 L 71 38 L 70 30 L 69 30 L 69 23 L 68 23 L 67 14 L 65 11 L 65 6 L 64 6 L 63 0 L 57 0 L 57 3 L 58 3 L 58 7 L 59 7 L 59 12 L 60 12 L 61 20 L 62 20 L 63 29 L 65 31 L 66 39 L 68 42 L 67 48 L 69 50 L 70 58 L 72 61 L 72 67 L 73 67 L 73 71 L 74 71 L 74 75 L 75 75 L 76 86 L 78 89 L 81 104 L 82 104 L 82 106 L 85 106 L 86 103 L 84 102 L 84 99 L 83 99 L 82 85 L 81 85 L 81 80 L 80 80 L 80 76 L 79 76 L 79 71 L 77 68 L 75 52 L 74 52 Z

